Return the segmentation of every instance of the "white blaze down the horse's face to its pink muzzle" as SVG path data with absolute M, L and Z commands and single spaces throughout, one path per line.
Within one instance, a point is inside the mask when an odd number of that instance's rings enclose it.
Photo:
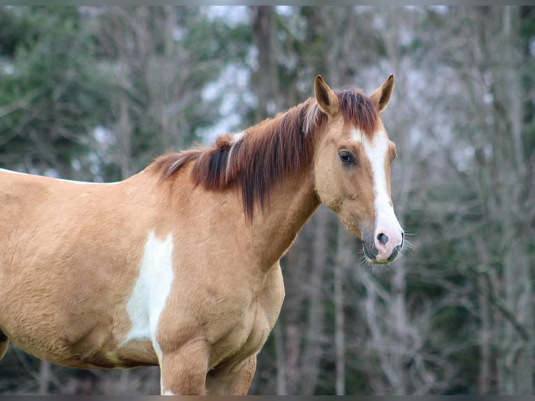
M 376 260 L 386 261 L 394 248 L 403 243 L 403 230 L 395 216 L 394 207 L 386 187 L 385 163 L 388 155 L 388 137 L 384 131 L 380 130 L 375 133 L 372 140 L 369 140 L 367 136 L 355 130 L 353 139 L 362 143 L 365 154 L 372 166 L 375 196 L 375 227 L 373 235 L 374 244 L 378 250 Z M 381 234 L 386 235 L 386 237 L 381 237 Z

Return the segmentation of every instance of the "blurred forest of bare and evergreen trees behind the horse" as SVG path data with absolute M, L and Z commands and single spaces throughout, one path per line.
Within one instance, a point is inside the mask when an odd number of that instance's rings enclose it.
M 250 393 L 532 394 L 534 59 L 533 6 L 2 6 L 0 166 L 122 180 L 304 101 L 316 74 L 369 93 L 394 73 L 411 250 L 364 268 L 320 207 L 281 261 Z M 0 393 L 157 394 L 159 369 L 11 346 Z

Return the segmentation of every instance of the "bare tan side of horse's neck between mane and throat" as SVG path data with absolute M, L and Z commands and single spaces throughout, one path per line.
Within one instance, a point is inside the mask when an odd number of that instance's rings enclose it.
M 312 174 L 296 175 L 278 185 L 265 210 L 257 210 L 251 226 L 258 253 L 275 263 L 292 245 L 318 205 Z

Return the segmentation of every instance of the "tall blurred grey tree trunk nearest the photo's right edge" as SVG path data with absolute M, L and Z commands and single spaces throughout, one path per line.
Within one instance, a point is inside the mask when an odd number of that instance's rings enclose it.
M 492 78 L 496 82 L 493 90 L 494 108 L 497 115 L 503 118 L 503 122 L 497 122 L 499 147 L 495 149 L 495 160 L 499 163 L 497 171 L 500 184 L 497 196 L 501 205 L 499 221 L 504 241 L 504 298 L 506 307 L 514 311 L 518 322 L 524 326 L 527 333 L 533 333 L 532 277 L 527 258 L 526 236 L 523 232 L 525 229 L 522 228 L 518 213 L 524 209 L 523 200 L 520 198 L 522 189 L 518 180 L 525 177 L 521 139 L 522 100 L 519 96 L 522 90 L 519 82 L 518 54 L 514 45 L 518 41 L 518 7 L 506 6 L 499 11 L 503 17 L 502 37 L 497 41 L 501 48 L 501 63 L 493 63 L 491 66 L 494 67 Z M 488 42 L 494 44 L 492 41 Z M 499 48 L 488 50 L 489 59 L 492 59 L 496 50 Z M 506 323 L 503 340 L 501 393 L 532 394 L 534 368 L 531 339 L 522 338 L 511 323 Z

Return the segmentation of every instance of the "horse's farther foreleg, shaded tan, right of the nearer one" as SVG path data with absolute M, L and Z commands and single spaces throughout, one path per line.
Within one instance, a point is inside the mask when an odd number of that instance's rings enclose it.
M 239 369 L 226 372 L 212 372 L 206 380 L 206 390 L 210 395 L 247 395 L 256 370 L 256 355 L 240 365 Z

